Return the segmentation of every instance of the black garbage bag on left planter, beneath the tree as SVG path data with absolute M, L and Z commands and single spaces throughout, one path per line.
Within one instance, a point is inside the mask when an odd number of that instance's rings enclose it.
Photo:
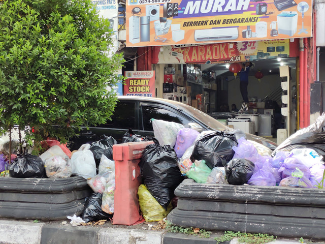
M 43 160 L 31 154 L 18 154 L 9 165 L 9 174 L 15 178 L 46 178 Z

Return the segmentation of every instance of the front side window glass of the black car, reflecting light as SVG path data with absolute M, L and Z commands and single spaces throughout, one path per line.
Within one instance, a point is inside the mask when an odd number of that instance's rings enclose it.
M 145 131 L 153 131 L 152 123 L 150 123 L 151 118 L 171 121 L 182 125 L 187 125 L 188 123 L 192 122 L 189 118 L 186 118 L 181 114 L 165 108 L 154 106 L 141 106 L 141 108 L 143 117 L 143 129 Z

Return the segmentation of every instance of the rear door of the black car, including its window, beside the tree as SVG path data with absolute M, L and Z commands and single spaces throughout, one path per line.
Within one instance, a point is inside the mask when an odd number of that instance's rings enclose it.
M 122 142 L 125 132 L 132 128 L 134 133 L 139 131 L 138 103 L 136 101 L 118 101 L 111 116 L 104 125 L 83 127 L 79 137 L 72 139 L 71 148 L 78 149 L 82 144 L 100 140 L 102 135 L 112 136 L 117 143 Z

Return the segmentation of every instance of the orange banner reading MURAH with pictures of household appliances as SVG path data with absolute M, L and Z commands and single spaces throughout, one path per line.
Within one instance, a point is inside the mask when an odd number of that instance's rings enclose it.
M 312 36 L 311 0 L 126 0 L 126 46 Z

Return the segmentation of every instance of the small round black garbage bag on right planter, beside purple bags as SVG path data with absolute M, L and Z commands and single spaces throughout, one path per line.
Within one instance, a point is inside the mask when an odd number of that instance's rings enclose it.
M 231 185 L 246 184 L 254 172 L 254 163 L 247 159 L 233 159 L 223 162 L 225 177 Z

